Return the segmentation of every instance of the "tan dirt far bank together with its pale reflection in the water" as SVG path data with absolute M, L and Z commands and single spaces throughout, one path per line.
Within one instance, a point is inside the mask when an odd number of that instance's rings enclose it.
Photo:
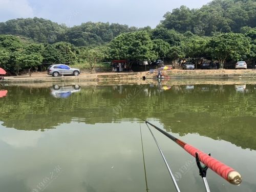
M 150 73 L 81 73 L 79 76 L 51 77 L 44 73 L 33 73 L 31 76 L 23 75 L 18 77 L 5 77 L 0 84 L 29 86 L 29 87 L 49 87 L 52 85 L 76 85 L 97 86 L 97 85 L 120 85 L 120 84 L 157 84 L 158 71 Z M 179 70 L 172 69 L 161 71 L 168 79 L 162 79 L 163 85 L 188 85 L 188 84 L 256 84 L 256 70 Z M 146 77 L 146 79 L 143 79 Z

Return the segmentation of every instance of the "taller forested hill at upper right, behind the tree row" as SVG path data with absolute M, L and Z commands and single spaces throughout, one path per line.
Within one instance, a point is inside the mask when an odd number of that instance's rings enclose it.
M 241 28 L 256 27 L 255 0 L 214 0 L 200 9 L 186 6 L 164 15 L 161 24 L 167 29 L 190 31 L 209 36 L 214 32 L 241 32 Z

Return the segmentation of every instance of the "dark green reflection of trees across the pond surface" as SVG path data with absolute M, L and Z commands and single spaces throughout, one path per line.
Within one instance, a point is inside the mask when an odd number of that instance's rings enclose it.
M 181 85 L 166 91 L 156 85 L 114 85 L 81 87 L 62 99 L 51 97 L 49 88 L 9 87 L 8 97 L 0 100 L 0 121 L 9 128 L 44 130 L 72 121 L 158 118 L 167 131 L 256 149 L 255 92 L 254 85 L 246 85 L 244 92 L 234 85 Z M 121 106 L 118 113 L 113 111 L 116 106 Z

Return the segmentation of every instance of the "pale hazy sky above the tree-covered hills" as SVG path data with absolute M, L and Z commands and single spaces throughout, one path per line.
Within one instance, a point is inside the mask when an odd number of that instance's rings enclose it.
M 110 22 L 155 28 L 163 15 L 185 5 L 200 8 L 210 0 L 0 0 L 0 22 L 42 17 L 67 26 L 82 22 Z

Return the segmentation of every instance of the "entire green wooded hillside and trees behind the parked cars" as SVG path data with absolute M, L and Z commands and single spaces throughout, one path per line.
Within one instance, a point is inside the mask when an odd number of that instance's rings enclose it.
M 0 23 L 0 67 L 8 74 L 44 70 L 50 63 L 68 63 L 93 70 L 112 59 L 169 63 L 256 57 L 256 2 L 214 0 L 200 9 L 185 6 L 167 12 L 155 29 L 118 23 L 86 22 L 67 27 L 42 18 Z M 234 66 L 234 65 L 233 65 Z M 251 65 L 252 66 L 252 65 Z M 232 66 L 231 66 L 232 67 Z

